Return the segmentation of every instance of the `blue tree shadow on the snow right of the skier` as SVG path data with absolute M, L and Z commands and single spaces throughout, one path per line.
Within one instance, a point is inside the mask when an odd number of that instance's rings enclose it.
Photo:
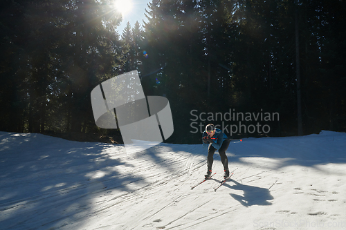
M 346 163 L 345 146 L 345 134 L 322 131 L 301 137 L 248 138 L 231 142 L 227 153 L 232 153 L 230 162 L 240 164 L 248 164 L 244 158 L 265 157 L 277 161 L 264 166 L 271 169 L 293 165 L 314 168 L 318 164 Z

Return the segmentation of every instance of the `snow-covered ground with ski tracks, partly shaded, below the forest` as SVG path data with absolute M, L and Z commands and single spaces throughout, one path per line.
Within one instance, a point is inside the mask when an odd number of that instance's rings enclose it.
M 232 142 L 216 192 L 206 155 L 0 132 L 0 229 L 346 229 L 346 133 Z

